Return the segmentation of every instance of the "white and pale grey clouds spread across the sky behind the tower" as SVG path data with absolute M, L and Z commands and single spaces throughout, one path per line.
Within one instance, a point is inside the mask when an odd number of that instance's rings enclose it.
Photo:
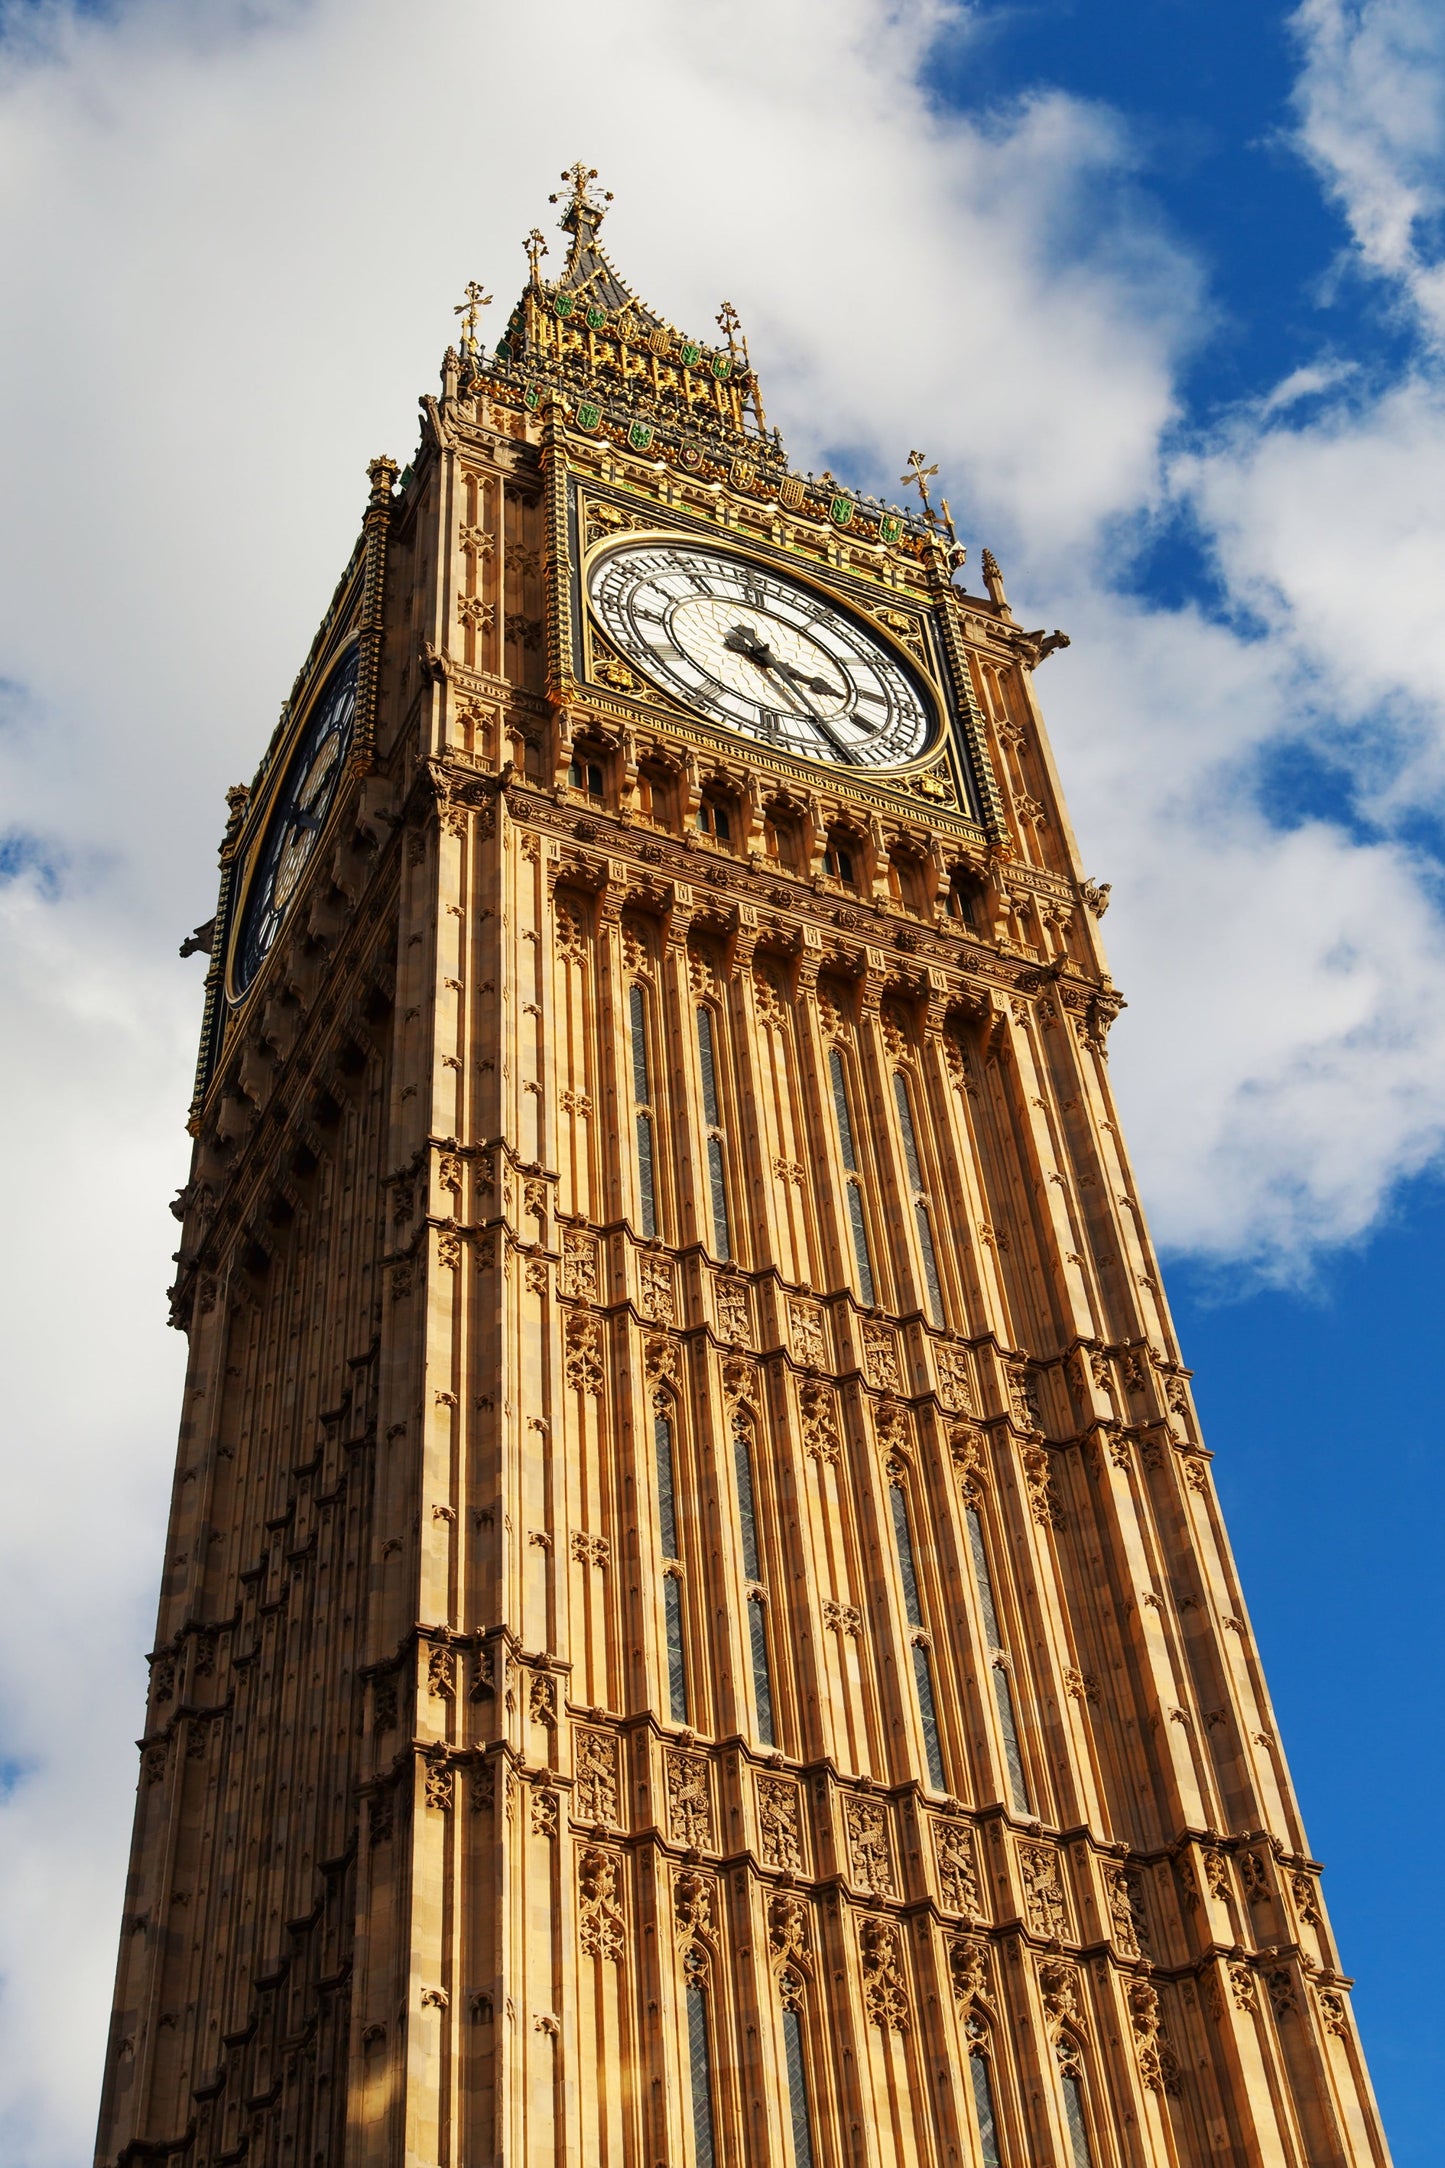
M 1075 635 L 1040 692 L 1114 880 L 1166 1244 L 1300 1273 L 1439 1156 L 1445 54 L 1410 0 L 1309 0 L 1296 35 L 1300 150 L 1410 360 L 1302 356 L 1200 436 L 1176 384 L 1209 297 L 1124 126 L 1057 91 L 942 106 L 947 0 L 0 0 L 6 2159 L 78 2161 L 93 2116 L 178 1396 L 173 947 L 366 457 L 409 451 L 461 284 L 500 317 L 578 150 L 643 295 L 698 330 L 739 304 L 802 464 L 897 490 L 927 444 L 1020 609 Z M 1120 581 L 1185 514 L 1213 614 Z M 1283 822 L 1261 778 L 1302 746 L 1335 813 Z

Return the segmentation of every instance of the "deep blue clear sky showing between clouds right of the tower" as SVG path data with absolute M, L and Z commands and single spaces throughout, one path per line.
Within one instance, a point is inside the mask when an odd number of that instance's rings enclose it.
M 1205 267 L 1213 323 L 1176 377 L 1181 440 L 1322 358 L 1358 371 L 1363 395 L 1419 360 L 1397 293 L 1350 260 L 1293 139 L 1289 9 L 1038 0 L 986 20 L 986 37 L 945 41 L 936 93 L 988 111 L 1023 85 L 1057 85 L 1127 115 L 1137 167 L 1124 184 Z M 1339 542 L 1348 551 L 1350 533 Z M 1187 518 L 1140 538 L 1129 581 L 1150 603 L 1228 616 Z M 1278 826 L 1371 828 L 1309 718 L 1270 748 L 1259 793 Z M 1406 824 L 1439 880 L 1439 809 L 1421 802 Z M 1443 1908 L 1421 1871 L 1445 1797 L 1445 1474 L 1430 1383 L 1443 1257 L 1445 1190 L 1430 1171 L 1400 1184 L 1358 1240 L 1315 1257 L 1302 1286 L 1259 1288 L 1248 1273 L 1239 1286 L 1226 1262 L 1179 1249 L 1168 1277 L 1402 2168 L 1445 2159 Z

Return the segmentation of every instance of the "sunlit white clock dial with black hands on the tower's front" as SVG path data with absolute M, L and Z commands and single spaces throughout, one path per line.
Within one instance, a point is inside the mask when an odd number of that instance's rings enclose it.
M 932 737 L 921 683 L 877 633 L 750 557 L 620 542 L 587 596 L 630 663 L 728 731 L 851 767 L 897 767 Z

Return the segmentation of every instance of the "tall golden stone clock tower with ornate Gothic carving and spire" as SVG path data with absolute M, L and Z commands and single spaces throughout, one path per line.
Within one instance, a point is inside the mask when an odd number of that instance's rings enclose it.
M 102 2161 L 1384 2161 L 1023 631 L 481 288 L 230 793 Z

